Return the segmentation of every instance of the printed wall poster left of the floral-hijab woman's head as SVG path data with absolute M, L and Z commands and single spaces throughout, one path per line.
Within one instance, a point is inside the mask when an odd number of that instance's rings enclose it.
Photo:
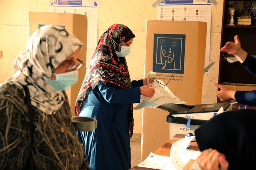
M 51 12 L 82 14 L 87 16 L 87 52 L 86 68 L 88 68 L 91 57 L 97 45 L 98 33 L 98 6 L 94 0 L 55 0 L 50 7 Z

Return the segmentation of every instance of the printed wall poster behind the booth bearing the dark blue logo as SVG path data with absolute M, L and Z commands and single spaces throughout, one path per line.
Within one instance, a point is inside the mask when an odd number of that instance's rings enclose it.
M 163 0 L 157 5 L 157 20 L 207 23 L 205 67 L 209 64 L 211 16 L 212 6 L 209 0 Z

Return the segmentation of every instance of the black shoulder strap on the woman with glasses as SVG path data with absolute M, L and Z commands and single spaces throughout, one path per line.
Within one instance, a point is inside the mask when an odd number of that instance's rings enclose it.
M 30 94 L 29 94 L 29 89 L 26 85 L 22 85 L 25 92 L 26 92 L 26 100 L 25 103 L 27 104 L 28 107 L 28 116 L 29 116 L 29 131 L 30 131 L 30 137 L 31 137 L 31 147 L 33 145 L 33 140 L 34 140 L 34 128 L 33 128 L 33 112 L 32 112 L 32 106 L 31 106 L 31 101 L 30 101 Z M 29 159 L 27 160 L 26 166 L 24 170 L 29 170 L 29 160 L 32 155 L 32 149 L 30 149 L 29 153 Z

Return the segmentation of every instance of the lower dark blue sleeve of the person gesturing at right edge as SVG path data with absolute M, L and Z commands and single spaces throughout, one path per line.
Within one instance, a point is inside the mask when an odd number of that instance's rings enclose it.
M 235 99 L 239 104 L 256 106 L 256 91 L 236 91 Z

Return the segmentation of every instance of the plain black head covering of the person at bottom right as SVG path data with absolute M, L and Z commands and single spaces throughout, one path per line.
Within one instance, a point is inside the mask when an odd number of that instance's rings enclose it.
M 226 156 L 229 169 L 254 169 L 256 110 L 228 111 L 213 117 L 195 131 L 201 151 L 216 149 Z

